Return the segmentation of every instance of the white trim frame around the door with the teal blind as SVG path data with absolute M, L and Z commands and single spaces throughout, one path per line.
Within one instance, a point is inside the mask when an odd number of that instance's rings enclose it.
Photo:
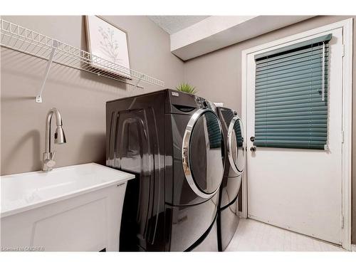
M 332 31 L 342 28 L 343 58 L 342 58 L 342 248 L 351 250 L 351 182 L 352 182 L 352 23 L 353 19 L 345 19 L 336 23 L 331 23 L 310 31 L 304 31 L 276 41 L 264 43 L 261 46 L 255 46 L 241 51 L 241 120 L 244 122 L 244 132 L 247 136 L 247 80 L 249 75 L 255 75 L 255 70 L 247 70 L 248 56 L 250 54 L 263 53 L 273 50 L 277 46 L 283 47 L 290 42 L 297 42 L 301 38 L 308 38 L 318 33 Z M 244 142 L 247 150 L 247 143 Z M 246 166 L 248 164 L 246 157 Z M 246 170 L 247 168 L 245 168 Z M 242 177 L 242 217 L 247 218 L 247 183 L 248 173 L 244 172 Z

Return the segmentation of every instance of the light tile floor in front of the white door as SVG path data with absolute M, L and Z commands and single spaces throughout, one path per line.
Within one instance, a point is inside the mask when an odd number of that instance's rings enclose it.
M 345 251 L 318 239 L 264 224 L 241 219 L 226 251 Z

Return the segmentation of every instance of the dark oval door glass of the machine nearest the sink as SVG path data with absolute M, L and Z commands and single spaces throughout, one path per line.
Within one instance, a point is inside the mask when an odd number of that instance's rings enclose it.
M 219 118 L 212 111 L 202 113 L 192 129 L 189 165 L 195 184 L 206 194 L 215 192 L 221 184 L 222 144 Z

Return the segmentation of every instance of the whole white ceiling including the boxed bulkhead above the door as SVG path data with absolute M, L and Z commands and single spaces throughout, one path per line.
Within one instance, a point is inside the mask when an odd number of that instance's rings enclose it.
M 312 16 L 148 16 L 169 34 L 171 52 L 187 61 Z

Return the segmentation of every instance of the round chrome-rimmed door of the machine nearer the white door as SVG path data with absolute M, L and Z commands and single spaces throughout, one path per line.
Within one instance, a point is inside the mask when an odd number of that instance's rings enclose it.
M 234 164 L 238 172 L 243 172 L 245 167 L 245 150 L 244 150 L 244 128 L 242 127 L 242 122 L 239 117 L 234 117 L 231 120 L 234 126 L 231 129 L 231 142 L 229 159 L 230 164 Z

